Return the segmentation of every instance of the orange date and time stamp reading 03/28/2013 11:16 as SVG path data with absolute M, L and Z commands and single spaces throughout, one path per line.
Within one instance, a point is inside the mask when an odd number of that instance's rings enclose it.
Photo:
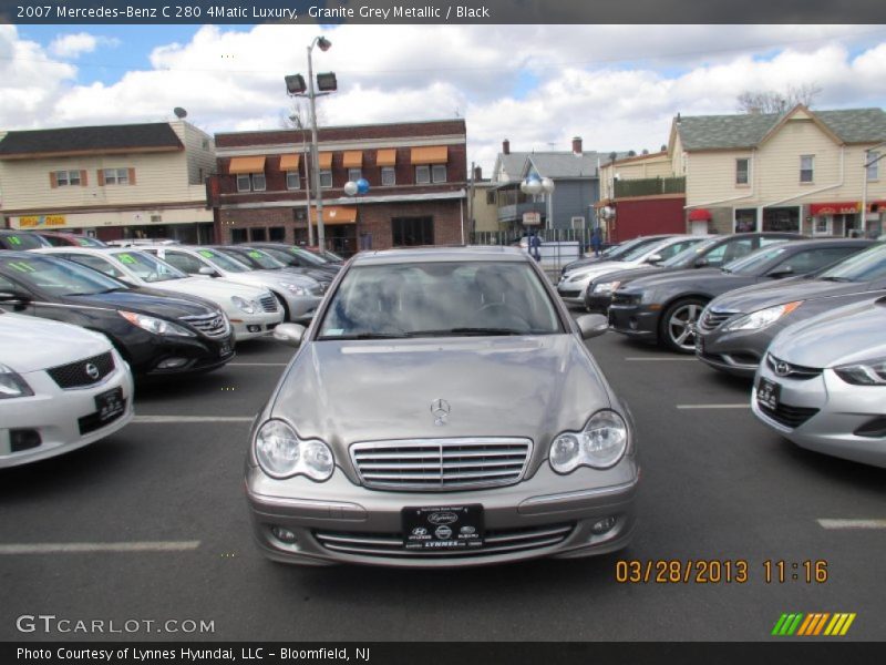
M 767 559 L 761 567 L 761 579 L 766 584 L 824 584 L 828 577 L 824 559 Z M 621 584 L 744 584 L 751 577 L 751 564 L 745 559 L 632 559 L 616 562 L 616 582 Z

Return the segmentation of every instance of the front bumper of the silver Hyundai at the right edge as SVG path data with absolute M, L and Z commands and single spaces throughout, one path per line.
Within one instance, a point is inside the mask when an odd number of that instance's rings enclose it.
M 801 448 L 886 467 L 886 436 L 854 433 L 886 418 L 886 388 L 853 386 L 830 369 L 814 378 L 794 379 L 779 377 L 763 364 L 759 376 L 780 386 L 780 409 L 773 412 L 758 403 L 759 379 L 754 385 L 751 409 L 765 424 Z

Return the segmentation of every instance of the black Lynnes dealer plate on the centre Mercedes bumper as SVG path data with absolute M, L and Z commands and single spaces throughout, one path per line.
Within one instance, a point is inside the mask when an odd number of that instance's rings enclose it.
M 483 507 L 404 508 L 403 546 L 408 550 L 463 550 L 483 546 Z

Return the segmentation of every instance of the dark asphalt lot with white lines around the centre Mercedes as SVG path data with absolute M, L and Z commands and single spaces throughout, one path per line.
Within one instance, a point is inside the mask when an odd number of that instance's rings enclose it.
M 23 614 L 52 614 L 214 622 L 210 634 L 128 635 L 162 640 L 756 641 L 782 613 L 845 612 L 857 615 L 845 638 L 882 640 L 886 471 L 780 439 L 751 415 L 746 383 L 691 357 L 615 334 L 588 344 L 639 431 L 628 550 L 450 571 L 265 561 L 243 463 L 292 351 L 257 340 L 222 370 L 140 388 L 117 434 L 0 471 L 0 638 L 127 637 L 17 630 Z M 748 581 L 620 583 L 625 560 L 744 561 Z M 785 562 L 784 582 L 765 581 L 767 561 L 774 576 Z M 826 582 L 805 581 L 807 561 L 827 562 Z

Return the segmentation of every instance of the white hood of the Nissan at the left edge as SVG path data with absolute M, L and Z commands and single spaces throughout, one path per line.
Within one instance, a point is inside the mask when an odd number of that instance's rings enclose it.
M 0 315 L 0 362 L 19 374 L 58 367 L 110 350 L 102 335 L 18 314 Z

